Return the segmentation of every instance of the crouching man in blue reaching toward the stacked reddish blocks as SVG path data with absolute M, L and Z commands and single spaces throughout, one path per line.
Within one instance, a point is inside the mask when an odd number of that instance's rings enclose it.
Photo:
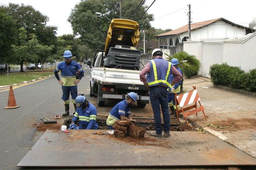
M 136 122 L 136 120 L 132 120 L 130 114 L 130 107 L 133 103 L 137 101 L 137 94 L 134 92 L 129 92 L 126 100 L 120 101 L 117 103 L 109 113 L 109 117 L 106 120 L 106 124 L 109 126 L 109 129 L 114 130 L 112 127 L 115 124 L 116 120 L 128 120 L 132 122 Z

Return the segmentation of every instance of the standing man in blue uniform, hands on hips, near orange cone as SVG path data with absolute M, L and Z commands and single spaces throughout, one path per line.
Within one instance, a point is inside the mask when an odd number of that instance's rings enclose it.
M 84 70 L 77 63 L 71 60 L 72 53 L 66 50 L 63 53 L 65 61 L 58 64 L 57 68 L 54 70 L 54 75 L 57 78 L 59 84 L 62 86 L 62 100 L 65 104 L 65 113 L 62 116 L 69 115 L 69 95 L 72 97 L 72 103 L 74 104 L 76 111 L 75 98 L 77 97 L 77 84 L 80 82 L 84 75 Z M 59 78 L 58 72 L 61 70 L 61 80 Z M 80 72 L 79 78 L 76 79 L 76 70 Z

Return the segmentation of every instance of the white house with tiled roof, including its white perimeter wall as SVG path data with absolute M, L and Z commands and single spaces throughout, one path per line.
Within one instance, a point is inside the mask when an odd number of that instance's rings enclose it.
M 191 24 L 191 39 L 188 39 L 188 25 L 156 37 L 159 48 L 167 54 L 177 43 L 184 43 L 179 50 L 197 56 L 202 64 L 198 74 L 210 78 L 209 67 L 216 63 L 226 62 L 245 72 L 256 68 L 256 33 L 253 32 L 254 29 L 217 18 Z

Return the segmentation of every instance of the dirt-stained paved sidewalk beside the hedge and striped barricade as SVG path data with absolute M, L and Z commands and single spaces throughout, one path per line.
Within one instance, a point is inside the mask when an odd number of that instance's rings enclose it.
M 256 158 L 256 97 L 214 87 L 204 77 L 184 79 L 183 87 L 187 91 L 192 86 L 196 86 L 208 120 L 202 112 L 189 116 L 188 120 Z M 207 123 L 219 128 L 205 126 Z

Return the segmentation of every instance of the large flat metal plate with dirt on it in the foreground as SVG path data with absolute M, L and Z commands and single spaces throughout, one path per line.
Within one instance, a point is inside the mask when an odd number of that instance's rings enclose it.
M 256 165 L 256 159 L 203 132 L 171 132 L 169 138 L 115 138 L 106 130 L 46 130 L 19 167 L 147 167 Z

